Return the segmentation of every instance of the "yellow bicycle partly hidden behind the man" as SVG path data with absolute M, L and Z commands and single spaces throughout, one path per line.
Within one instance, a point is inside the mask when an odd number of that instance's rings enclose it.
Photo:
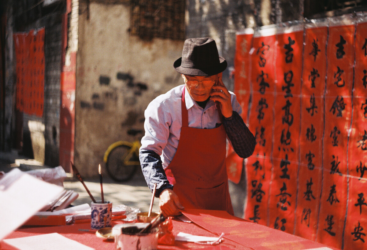
M 130 129 L 128 135 L 136 136 L 143 133 L 142 130 Z M 138 167 L 140 140 L 133 142 L 116 141 L 112 143 L 103 156 L 103 162 L 106 164 L 106 170 L 109 176 L 115 181 L 128 181 L 134 176 Z

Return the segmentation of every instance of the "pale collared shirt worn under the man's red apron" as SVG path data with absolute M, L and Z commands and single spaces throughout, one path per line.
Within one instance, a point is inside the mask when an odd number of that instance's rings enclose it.
M 185 85 L 179 85 L 167 93 L 158 96 L 149 103 L 145 110 L 145 135 L 141 140 L 140 150 L 153 150 L 160 155 L 163 169 L 172 161 L 180 139 L 182 126 L 181 96 Z M 232 109 L 241 115 L 242 109 L 233 92 Z M 209 100 L 201 108 L 185 91 L 186 109 L 188 110 L 189 127 L 211 129 L 221 124 L 215 103 Z

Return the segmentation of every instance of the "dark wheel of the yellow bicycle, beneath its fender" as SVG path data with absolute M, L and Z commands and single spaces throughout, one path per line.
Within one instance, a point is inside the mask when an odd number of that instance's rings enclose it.
M 127 181 L 135 174 L 140 165 L 125 165 L 124 159 L 130 152 L 131 147 L 120 145 L 114 148 L 107 157 L 106 169 L 110 177 L 115 181 Z M 132 154 L 130 161 L 139 161 L 136 154 Z

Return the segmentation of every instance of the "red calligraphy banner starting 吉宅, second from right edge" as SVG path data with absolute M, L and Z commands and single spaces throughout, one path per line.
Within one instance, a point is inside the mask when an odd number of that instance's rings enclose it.
M 336 22 L 337 23 L 337 22 Z M 342 247 L 347 201 L 348 132 L 352 117 L 354 25 L 329 27 L 325 96 L 324 178 L 317 240 Z

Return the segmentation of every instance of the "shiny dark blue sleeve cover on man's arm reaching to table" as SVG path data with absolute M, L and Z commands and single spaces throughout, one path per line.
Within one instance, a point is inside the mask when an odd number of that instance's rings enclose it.
M 139 160 L 145 181 L 152 192 L 154 184 L 157 183 L 155 197 L 158 198 L 166 188 L 173 189 L 173 185 L 167 180 L 162 161 L 156 152 L 152 150 L 140 150 Z

